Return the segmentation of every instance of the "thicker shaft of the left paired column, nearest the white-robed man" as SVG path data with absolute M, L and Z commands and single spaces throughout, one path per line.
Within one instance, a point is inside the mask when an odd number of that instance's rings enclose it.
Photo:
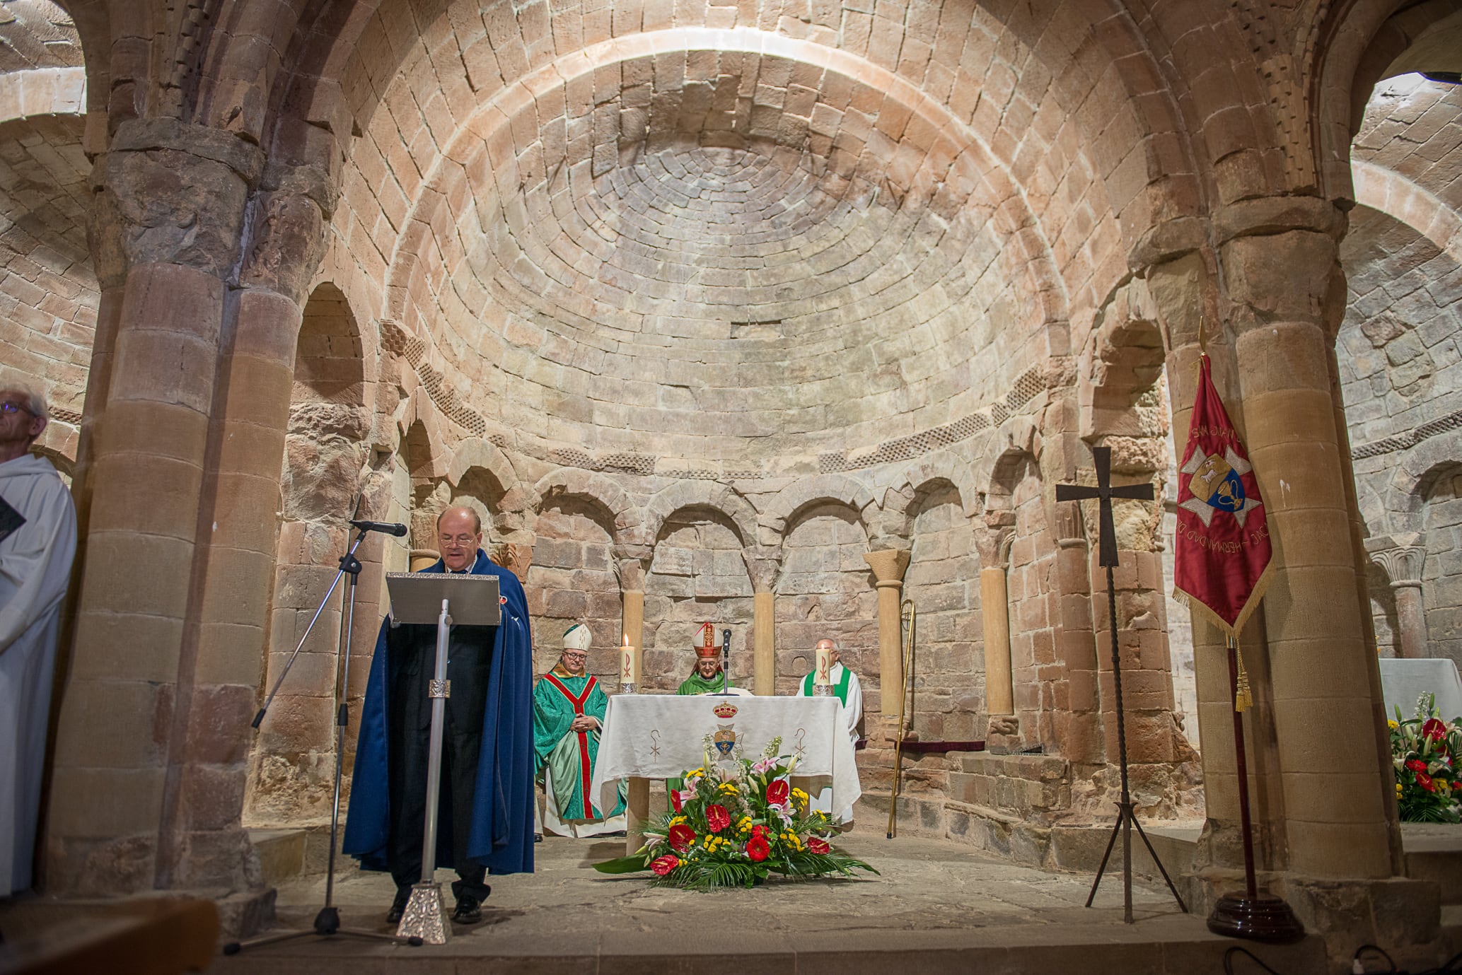
M 170 738 L 193 703 L 180 684 L 196 672 L 190 623 L 205 596 L 197 573 L 212 535 L 200 515 L 216 463 L 209 440 L 225 279 L 260 162 L 257 148 L 231 134 L 133 120 L 118 127 L 98 170 L 94 260 L 102 291 L 120 301 L 114 325 L 108 316 L 111 348 L 102 349 L 111 382 L 88 402 L 89 536 L 57 724 L 50 890 L 120 895 L 170 886 L 174 873 L 162 851 L 175 795 Z M 282 437 L 281 428 L 281 450 Z M 279 463 L 276 455 L 276 479 Z M 275 507 L 270 500 L 270 529 Z M 250 664 L 254 686 L 257 648 Z M 247 709 L 238 716 L 247 728 Z M 232 718 L 232 709 L 213 715 L 219 724 Z M 230 732 L 244 740 L 243 729 Z M 218 735 L 208 738 L 213 746 Z M 216 792 L 205 797 L 219 804 Z

